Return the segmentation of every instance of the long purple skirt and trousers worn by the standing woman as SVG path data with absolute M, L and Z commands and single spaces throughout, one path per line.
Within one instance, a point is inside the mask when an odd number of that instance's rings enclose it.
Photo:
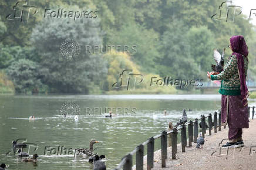
M 242 136 L 242 128 L 249 128 L 248 105 L 243 106 L 241 96 L 221 96 L 221 122 L 228 124 L 228 139 Z

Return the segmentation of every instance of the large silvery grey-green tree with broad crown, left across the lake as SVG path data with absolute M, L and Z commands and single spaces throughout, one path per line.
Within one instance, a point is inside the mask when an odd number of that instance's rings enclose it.
M 74 11 L 79 10 L 76 6 Z M 91 55 L 86 45 L 102 44 L 102 31 L 99 19 L 45 19 L 32 32 L 33 45 L 42 56 L 41 72 L 43 83 L 52 87 L 52 91 L 62 93 L 89 93 L 99 85 L 106 74 L 106 62 L 100 55 Z M 68 43 L 76 46 L 70 53 L 73 59 L 63 59 L 60 46 Z

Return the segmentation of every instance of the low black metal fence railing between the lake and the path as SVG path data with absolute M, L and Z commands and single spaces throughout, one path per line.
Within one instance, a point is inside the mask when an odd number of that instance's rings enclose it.
M 254 119 L 254 106 L 252 107 L 252 119 Z M 180 125 L 178 128 L 173 128 L 171 131 L 163 131 L 161 134 L 155 135 L 154 137 L 149 138 L 147 141 L 138 145 L 132 152 L 125 155 L 122 158 L 120 164 L 116 167 L 116 169 L 124 169 L 131 170 L 133 166 L 133 155 L 136 154 L 136 170 L 143 170 L 143 157 L 144 157 L 144 146 L 147 145 L 147 169 L 151 169 L 154 166 L 154 141 L 158 138 L 161 138 L 161 167 L 166 167 L 166 159 L 167 159 L 167 135 L 171 135 L 171 159 L 176 159 L 177 153 L 177 134 L 180 130 L 181 134 L 181 150 L 182 152 L 186 152 L 187 147 L 187 131 L 186 127 L 188 126 L 188 147 L 192 146 L 192 142 L 197 143 L 198 137 L 198 121 L 201 120 L 202 127 L 202 137 L 205 138 L 206 130 L 206 118 L 208 118 L 208 135 L 211 135 L 211 131 L 214 128 L 214 133 L 221 131 L 221 114 L 215 112 L 208 116 L 202 115 L 201 118 L 190 120 L 188 123 Z M 217 118 L 218 117 L 218 118 Z M 250 107 L 248 107 L 248 118 L 250 118 Z M 224 126 L 224 128 L 226 128 Z

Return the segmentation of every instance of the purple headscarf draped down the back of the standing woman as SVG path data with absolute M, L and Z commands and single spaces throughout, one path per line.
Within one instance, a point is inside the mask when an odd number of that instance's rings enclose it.
M 239 76 L 240 76 L 240 90 L 241 90 L 241 96 L 243 98 L 242 103 L 244 106 L 247 104 L 247 97 L 249 96 L 249 92 L 246 86 L 245 82 L 245 70 L 244 70 L 244 57 L 248 61 L 247 56 L 248 56 L 248 47 L 245 43 L 244 37 L 241 35 L 236 35 L 230 38 L 230 45 L 233 50 L 232 55 L 237 56 L 237 66 L 239 69 Z

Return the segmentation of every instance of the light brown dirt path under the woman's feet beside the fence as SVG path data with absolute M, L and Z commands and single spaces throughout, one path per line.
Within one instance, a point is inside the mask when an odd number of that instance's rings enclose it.
M 218 145 L 227 135 L 228 127 L 221 127 L 221 131 L 217 133 L 212 131 L 211 136 L 207 131 L 204 147 L 196 149 L 196 144 L 193 143 L 192 147 L 186 147 L 186 152 L 181 152 L 179 144 L 175 160 L 171 159 L 171 147 L 167 148 L 166 168 L 161 168 L 161 151 L 156 151 L 153 169 L 256 169 L 256 120 L 250 120 L 250 128 L 243 129 L 245 147 L 229 148 L 228 154 L 227 149 L 222 148 L 220 155 Z M 227 140 L 223 141 L 226 142 Z M 146 169 L 146 157 L 144 162 Z

